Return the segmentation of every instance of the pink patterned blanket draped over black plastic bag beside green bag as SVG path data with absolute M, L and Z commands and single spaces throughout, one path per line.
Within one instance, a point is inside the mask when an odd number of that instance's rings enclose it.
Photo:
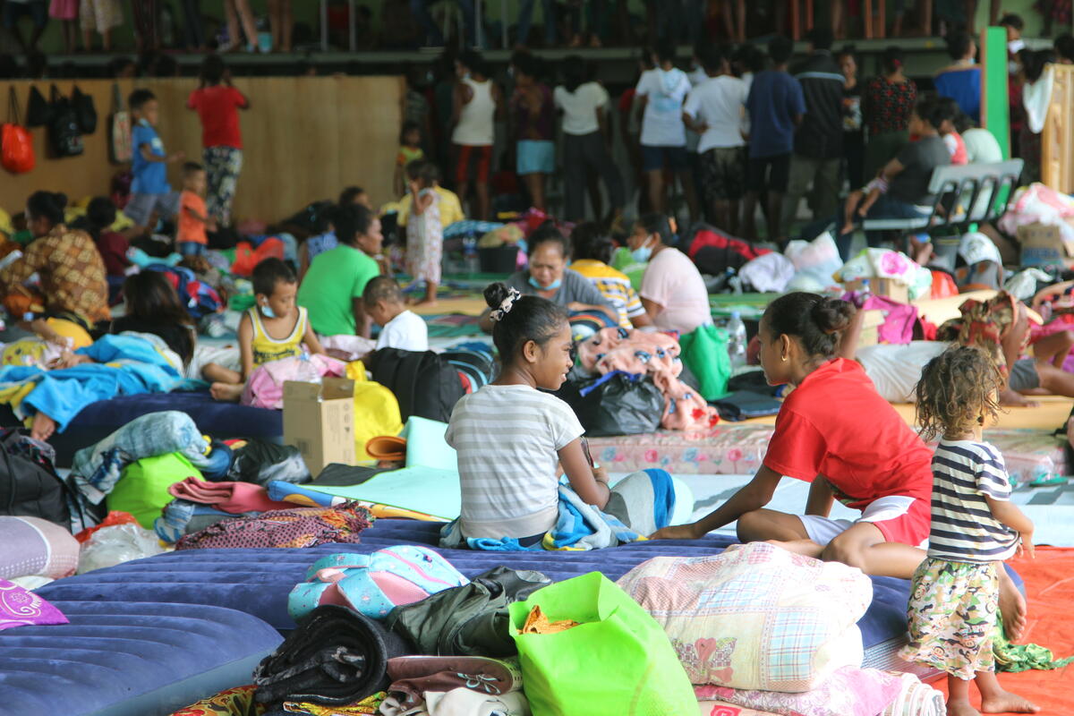
M 668 430 L 703 429 L 720 420 L 716 409 L 679 379 L 682 359 L 679 341 L 664 333 L 604 328 L 578 346 L 578 360 L 590 374 L 622 370 L 652 376 L 664 394 L 661 427 Z

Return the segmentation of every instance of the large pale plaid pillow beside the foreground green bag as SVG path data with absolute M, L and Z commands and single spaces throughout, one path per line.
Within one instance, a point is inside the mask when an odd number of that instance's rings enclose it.
M 711 557 L 657 557 L 619 585 L 664 627 L 694 684 L 808 691 L 861 664 L 860 570 L 765 543 Z

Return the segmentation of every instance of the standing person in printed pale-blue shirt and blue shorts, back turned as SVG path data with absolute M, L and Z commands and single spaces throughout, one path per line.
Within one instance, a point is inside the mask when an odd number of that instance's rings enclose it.
M 682 103 L 690 92 L 690 78 L 674 65 L 674 45 L 662 43 L 655 54 L 656 68 L 642 73 L 636 90 L 641 119 L 641 166 L 649 175 L 649 196 L 654 211 L 666 210 L 664 171 L 679 176 L 690 208 L 697 219 L 697 194 L 686 156 L 686 130 Z

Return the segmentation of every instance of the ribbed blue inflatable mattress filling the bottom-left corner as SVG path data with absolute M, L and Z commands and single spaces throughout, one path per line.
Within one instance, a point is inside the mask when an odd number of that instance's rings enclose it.
M 0 713 L 165 716 L 248 684 L 282 641 L 261 619 L 219 607 L 53 604 L 70 624 L 0 631 Z

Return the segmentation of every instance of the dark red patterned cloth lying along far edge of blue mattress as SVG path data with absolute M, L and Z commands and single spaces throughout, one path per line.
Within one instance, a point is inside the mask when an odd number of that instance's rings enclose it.
M 277 510 L 270 516 L 235 517 L 187 535 L 176 550 L 309 547 L 357 543 L 369 526 L 369 511 L 357 502 L 332 508 Z

